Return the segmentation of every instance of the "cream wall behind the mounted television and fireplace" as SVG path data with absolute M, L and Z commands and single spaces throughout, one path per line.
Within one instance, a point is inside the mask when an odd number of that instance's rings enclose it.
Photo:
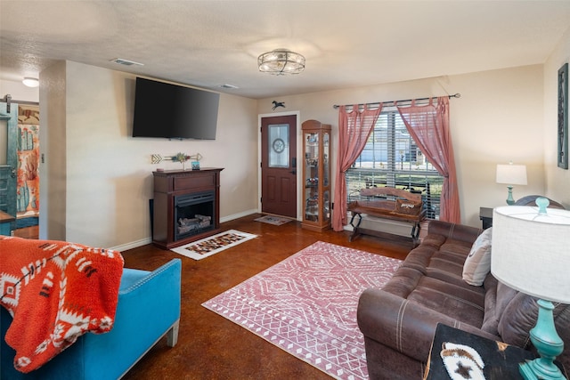
M 42 123 L 42 130 L 50 131 L 50 136 L 53 129 L 64 131 L 65 136 L 59 147 L 65 150 L 64 216 L 53 217 L 50 209 L 46 221 L 53 225 L 64 218 L 65 236 L 57 239 L 119 249 L 150 242 L 152 171 L 182 168 L 170 161 L 152 165 L 152 153 L 199 152 L 203 156 L 200 166 L 224 168 L 222 219 L 256 211 L 256 101 L 222 94 L 216 141 L 132 138 L 134 76 L 71 61 L 64 65 L 65 123 Z M 44 114 L 42 110 L 42 120 Z M 60 154 L 52 144 L 46 159 Z M 53 184 L 53 178 L 51 181 Z M 50 186 L 45 197 L 58 198 L 59 191 L 59 187 Z M 47 236 L 53 239 L 51 234 Z

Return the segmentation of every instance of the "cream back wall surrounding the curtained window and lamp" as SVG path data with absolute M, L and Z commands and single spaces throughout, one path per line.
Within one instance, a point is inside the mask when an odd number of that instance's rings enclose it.
M 334 104 L 394 101 L 460 93 L 450 101 L 453 149 L 460 183 L 461 221 L 481 226 L 480 206 L 505 204 L 507 189 L 495 183 L 497 164 L 509 160 L 528 167 L 528 185 L 515 188 L 515 198 L 542 194 L 542 65 L 460 76 L 436 77 L 371 85 L 258 101 L 259 114 L 271 113 L 272 101 L 285 101 L 285 112 L 300 112 L 301 123 L 317 119 L 331 124 L 333 187 L 336 183 L 338 110 Z M 299 126 L 300 127 L 300 126 Z M 300 134 L 298 143 L 300 144 Z

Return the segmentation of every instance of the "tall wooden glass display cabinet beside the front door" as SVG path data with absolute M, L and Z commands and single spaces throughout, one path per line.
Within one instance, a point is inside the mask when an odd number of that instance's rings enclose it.
M 303 131 L 303 222 L 307 230 L 330 229 L 330 125 L 307 120 Z

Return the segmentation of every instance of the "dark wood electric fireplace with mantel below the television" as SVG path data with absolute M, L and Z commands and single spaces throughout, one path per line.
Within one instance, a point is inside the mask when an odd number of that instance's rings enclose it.
M 220 231 L 222 168 L 152 172 L 152 242 L 166 249 L 183 246 Z

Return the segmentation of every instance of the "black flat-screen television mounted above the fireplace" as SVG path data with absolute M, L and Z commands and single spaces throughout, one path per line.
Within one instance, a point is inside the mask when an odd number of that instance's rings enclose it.
M 219 100 L 219 93 L 137 77 L 133 137 L 216 140 Z

